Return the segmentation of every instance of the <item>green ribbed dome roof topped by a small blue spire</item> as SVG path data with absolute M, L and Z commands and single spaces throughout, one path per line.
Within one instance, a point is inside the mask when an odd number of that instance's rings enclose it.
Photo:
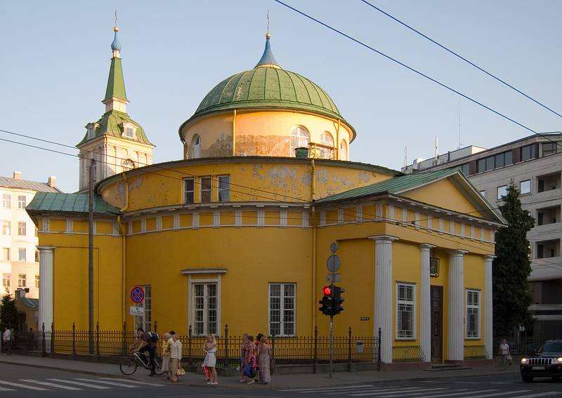
M 348 124 L 332 98 L 318 84 L 277 65 L 271 53 L 269 37 L 258 65 L 224 79 L 209 91 L 195 114 L 180 127 L 180 135 L 183 126 L 198 117 L 225 110 L 244 109 L 310 112 L 340 119 Z

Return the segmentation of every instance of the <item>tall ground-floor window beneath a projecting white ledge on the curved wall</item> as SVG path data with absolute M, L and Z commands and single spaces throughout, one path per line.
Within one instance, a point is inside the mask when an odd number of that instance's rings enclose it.
M 192 284 L 193 333 L 197 336 L 217 333 L 218 300 L 216 283 Z

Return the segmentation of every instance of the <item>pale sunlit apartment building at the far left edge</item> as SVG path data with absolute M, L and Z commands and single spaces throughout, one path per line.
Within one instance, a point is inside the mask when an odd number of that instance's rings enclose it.
M 38 183 L 22 180 L 19 171 L 14 171 L 13 178 L 0 176 L 2 296 L 13 295 L 22 288 L 28 292 L 28 298 L 39 298 L 37 228 L 25 211 L 36 192 L 60 192 L 55 187 L 55 177 L 49 177 L 47 183 Z

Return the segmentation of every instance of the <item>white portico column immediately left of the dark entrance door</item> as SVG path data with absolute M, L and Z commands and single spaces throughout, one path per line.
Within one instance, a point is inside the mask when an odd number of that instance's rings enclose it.
M 429 258 L 431 244 L 419 245 L 421 251 L 421 283 L 419 284 L 419 345 L 426 356 L 426 361 L 431 361 L 431 297 L 429 282 Z

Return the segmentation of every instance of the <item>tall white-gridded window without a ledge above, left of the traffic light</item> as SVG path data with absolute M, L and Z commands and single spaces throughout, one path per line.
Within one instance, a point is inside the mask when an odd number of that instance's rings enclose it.
M 294 336 L 296 284 L 269 284 L 269 334 Z

